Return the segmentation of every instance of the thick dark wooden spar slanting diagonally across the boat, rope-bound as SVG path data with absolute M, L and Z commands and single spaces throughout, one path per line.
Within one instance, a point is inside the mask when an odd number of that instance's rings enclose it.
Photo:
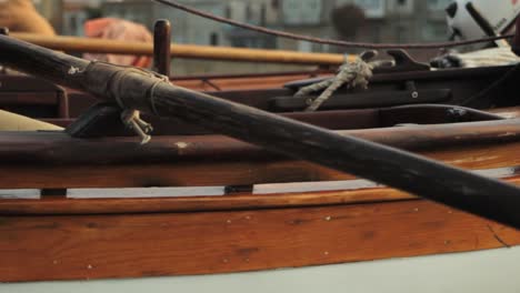
M 173 117 L 520 228 L 520 190 L 503 182 L 176 87 L 136 69 L 89 62 L 8 37 L 0 37 L 0 51 L 6 65 L 124 108 Z

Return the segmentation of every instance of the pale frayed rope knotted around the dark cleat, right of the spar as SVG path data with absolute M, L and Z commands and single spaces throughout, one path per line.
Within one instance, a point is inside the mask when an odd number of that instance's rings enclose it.
M 320 108 L 339 88 L 343 85 L 347 85 L 348 89 L 367 89 L 374 68 L 392 64 L 392 61 L 371 61 L 377 55 L 377 51 L 370 50 L 362 52 L 354 61 L 346 60 L 346 62 L 339 68 L 336 77 L 303 87 L 294 94 L 294 97 L 306 98 L 313 92 L 324 89 L 317 99 L 313 100 L 312 98 L 308 98 L 306 101 L 308 104 L 306 111 L 317 111 L 318 108 Z

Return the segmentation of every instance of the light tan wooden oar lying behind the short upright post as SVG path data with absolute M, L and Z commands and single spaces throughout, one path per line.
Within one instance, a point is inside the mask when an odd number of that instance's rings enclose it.
M 126 42 L 77 37 L 44 37 L 30 33 L 11 33 L 10 36 L 41 47 L 67 52 L 137 55 L 153 54 L 152 43 Z M 343 54 L 331 53 L 302 53 L 296 51 L 260 50 L 177 43 L 171 44 L 171 54 L 176 58 L 187 59 L 287 63 L 302 65 L 340 65 L 344 62 L 346 58 L 346 55 Z M 349 60 L 353 60 L 356 57 L 352 54 L 347 55 L 347 58 Z

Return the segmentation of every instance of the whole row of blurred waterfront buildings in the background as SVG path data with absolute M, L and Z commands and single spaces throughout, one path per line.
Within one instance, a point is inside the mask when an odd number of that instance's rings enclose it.
M 220 17 L 289 32 L 339 38 L 331 24 L 332 10 L 354 4 L 366 20 L 353 40 L 369 42 L 424 42 L 447 39 L 444 8 L 452 0 L 181 0 Z M 150 3 L 149 0 L 68 0 L 63 6 L 66 34 L 81 34 L 89 18 L 84 7 L 96 7 L 103 17 L 117 17 L 153 27 L 157 19 L 169 19 L 173 41 L 179 43 L 334 51 L 328 46 L 277 39 L 243 29 L 216 23 L 186 12 Z

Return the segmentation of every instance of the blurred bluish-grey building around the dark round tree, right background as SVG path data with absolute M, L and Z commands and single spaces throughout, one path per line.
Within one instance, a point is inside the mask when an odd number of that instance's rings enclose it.
M 364 11 L 363 24 L 350 39 L 367 42 L 424 42 L 447 40 L 444 8 L 452 0 L 281 0 L 284 30 L 339 39 L 331 24 L 332 10 L 352 4 Z M 302 51 L 334 51 L 329 47 L 283 40 L 282 47 Z

